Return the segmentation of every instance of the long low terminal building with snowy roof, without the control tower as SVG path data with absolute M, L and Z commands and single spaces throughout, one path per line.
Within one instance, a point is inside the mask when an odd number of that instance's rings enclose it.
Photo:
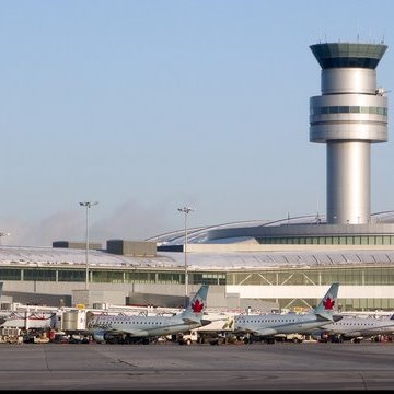
M 383 219 L 393 220 L 394 212 L 385 212 Z M 227 237 L 228 232 L 236 228 L 259 232 L 262 228 L 270 227 L 270 223 L 250 224 L 189 230 L 186 251 L 188 290 L 193 293 L 199 285 L 210 285 L 209 308 L 241 311 L 248 306 L 264 311 L 308 309 L 332 282 L 338 281 L 339 303 L 344 311 L 394 309 L 393 244 L 381 244 L 381 241 L 364 245 L 340 243 L 340 237 L 350 236 L 348 234 L 334 236 L 338 242 L 331 245 L 262 244 L 253 236 Z M 282 224 L 273 225 L 276 232 L 278 225 L 294 227 L 296 234 L 298 227 L 322 224 L 291 224 L 291 219 L 286 219 Z M 221 230 L 225 237 L 219 239 Z M 216 243 L 207 242 L 211 231 Z M 176 308 L 183 304 L 185 294 L 184 235 L 181 230 L 160 236 L 158 242 L 112 240 L 107 241 L 105 250 L 90 250 L 88 290 L 85 250 L 81 245 L 0 246 L 3 294 L 21 303 Z M 366 234 L 355 236 L 367 237 Z M 389 235 L 375 233 L 369 236 L 383 240 Z M 119 244 L 123 245 L 120 250 Z

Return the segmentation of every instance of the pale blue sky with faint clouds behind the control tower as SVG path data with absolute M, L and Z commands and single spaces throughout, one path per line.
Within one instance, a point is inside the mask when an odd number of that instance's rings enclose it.
M 0 0 L 1 244 L 83 242 L 86 221 L 104 247 L 142 241 L 183 229 L 185 206 L 189 228 L 325 215 L 326 147 L 309 142 L 325 42 L 389 46 L 371 211 L 393 210 L 393 15 L 392 0 Z

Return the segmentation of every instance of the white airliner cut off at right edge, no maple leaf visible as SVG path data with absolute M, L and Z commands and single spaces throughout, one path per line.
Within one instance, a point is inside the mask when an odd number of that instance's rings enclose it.
M 312 337 L 324 341 L 361 341 L 378 335 L 394 334 L 394 314 L 391 317 L 344 316 L 340 321 L 326 324 L 312 333 Z

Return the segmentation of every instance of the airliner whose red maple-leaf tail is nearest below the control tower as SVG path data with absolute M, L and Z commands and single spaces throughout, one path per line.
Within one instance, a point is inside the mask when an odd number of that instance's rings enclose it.
M 275 335 L 310 333 L 326 324 L 340 320 L 334 315 L 339 283 L 332 283 L 318 305 L 306 314 L 258 314 L 237 315 L 234 318 L 234 332 L 245 333 L 245 341 L 253 341 L 254 337 L 265 338 L 268 344 L 275 343 Z

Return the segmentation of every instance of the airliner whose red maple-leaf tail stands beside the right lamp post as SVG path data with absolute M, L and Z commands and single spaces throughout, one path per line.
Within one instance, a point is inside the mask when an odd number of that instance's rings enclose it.
M 202 285 L 187 308 L 173 316 L 96 315 L 88 323 L 88 333 L 97 343 L 121 341 L 149 344 L 155 337 L 184 333 L 209 324 L 202 318 L 207 303 L 207 285 Z

